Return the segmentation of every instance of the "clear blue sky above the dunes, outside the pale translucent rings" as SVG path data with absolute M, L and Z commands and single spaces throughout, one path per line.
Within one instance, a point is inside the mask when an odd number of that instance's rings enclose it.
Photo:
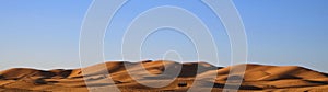
M 80 27 L 92 0 L 1 0 L 0 70 L 78 68 Z M 296 65 L 328 72 L 327 0 L 233 0 L 244 21 L 248 62 Z M 176 5 L 198 15 L 219 48 L 220 65 L 230 64 L 230 43 L 213 12 L 199 0 L 131 0 L 114 18 L 105 38 L 106 60 L 120 60 L 125 27 L 139 13 L 159 5 Z M 161 59 L 175 49 L 196 60 L 192 43 L 174 31 L 150 35 L 142 58 Z M 90 62 L 90 65 L 96 62 Z

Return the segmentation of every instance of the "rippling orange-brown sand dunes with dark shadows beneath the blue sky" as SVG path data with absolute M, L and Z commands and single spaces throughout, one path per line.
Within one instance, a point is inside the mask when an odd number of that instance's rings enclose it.
M 125 65 L 129 67 L 125 67 Z M 101 69 L 99 67 L 102 66 L 107 68 Z M 113 88 L 115 85 L 124 92 L 186 92 L 191 85 L 197 89 L 212 89 L 213 92 L 221 92 L 224 84 L 229 87 L 229 81 L 226 80 L 233 77 L 229 76 L 231 68 L 242 66 L 246 66 L 247 69 L 244 78 L 241 79 L 243 83 L 237 89 L 239 92 L 328 92 L 327 73 L 297 66 L 245 64 L 223 68 L 207 62 L 179 64 L 163 60 L 140 62 L 108 61 L 71 70 L 54 69 L 46 71 L 13 68 L 0 71 L 0 92 L 87 92 L 89 90 Z M 148 72 L 142 71 L 143 68 Z M 127 72 L 127 69 L 130 73 Z M 165 70 L 176 70 L 177 72 L 179 69 L 180 73 L 177 74 L 177 78 L 174 76 L 174 72 L 165 72 Z M 82 72 L 82 70 L 87 72 Z M 104 74 L 104 72 L 110 72 L 110 74 Z M 133 77 L 130 74 L 133 74 Z M 212 78 L 213 76 L 214 78 Z M 108 78 L 112 78 L 113 81 L 106 81 Z M 150 85 L 167 81 L 172 81 L 172 83 L 162 88 L 150 88 L 140 84 L 136 79 Z M 85 81 L 87 81 L 87 84 Z M 208 83 L 213 85 L 208 85 Z

